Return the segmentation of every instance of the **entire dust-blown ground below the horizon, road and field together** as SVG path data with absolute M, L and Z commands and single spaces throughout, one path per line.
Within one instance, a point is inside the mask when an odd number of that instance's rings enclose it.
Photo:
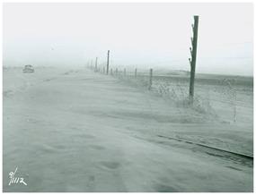
M 4 191 L 252 191 L 252 78 L 199 75 L 194 106 L 186 72 L 146 85 L 4 70 Z M 27 186 L 8 185 L 15 167 Z

